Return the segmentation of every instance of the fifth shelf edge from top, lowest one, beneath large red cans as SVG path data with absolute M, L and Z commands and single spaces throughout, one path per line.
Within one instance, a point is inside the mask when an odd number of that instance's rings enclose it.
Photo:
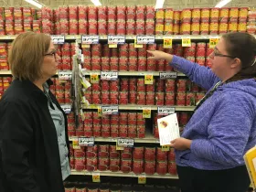
M 77 175 L 77 176 L 92 176 L 92 175 L 100 174 L 100 176 L 123 176 L 123 177 L 138 177 L 138 176 L 145 176 L 147 178 L 169 178 L 169 179 L 178 179 L 178 176 L 173 176 L 170 174 L 166 175 L 146 175 L 146 174 L 140 174 L 140 175 L 135 175 L 133 173 L 128 173 L 125 174 L 121 171 L 119 172 L 111 172 L 111 171 L 94 171 L 94 172 L 88 172 L 88 171 L 76 171 L 76 170 L 71 170 L 71 175 Z

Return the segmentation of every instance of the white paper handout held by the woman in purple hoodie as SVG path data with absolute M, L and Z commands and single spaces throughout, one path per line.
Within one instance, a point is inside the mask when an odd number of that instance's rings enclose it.
M 179 127 L 176 113 L 157 120 L 160 145 L 169 145 L 171 141 L 179 138 Z

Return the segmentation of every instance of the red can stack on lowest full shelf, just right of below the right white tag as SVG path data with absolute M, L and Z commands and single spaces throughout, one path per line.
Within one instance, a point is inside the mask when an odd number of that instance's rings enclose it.
M 144 173 L 144 146 L 133 147 L 133 173 Z

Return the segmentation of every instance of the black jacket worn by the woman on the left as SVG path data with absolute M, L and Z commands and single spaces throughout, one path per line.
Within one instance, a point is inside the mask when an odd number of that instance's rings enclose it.
M 29 80 L 14 80 L 0 101 L 0 191 L 64 192 L 48 99 Z

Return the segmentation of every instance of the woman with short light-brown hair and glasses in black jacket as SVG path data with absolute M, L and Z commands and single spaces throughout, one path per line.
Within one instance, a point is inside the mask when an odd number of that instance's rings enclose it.
M 64 192 L 67 118 L 48 89 L 58 57 L 47 35 L 27 32 L 13 42 L 14 81 L 0 101 L 1 192 Z

